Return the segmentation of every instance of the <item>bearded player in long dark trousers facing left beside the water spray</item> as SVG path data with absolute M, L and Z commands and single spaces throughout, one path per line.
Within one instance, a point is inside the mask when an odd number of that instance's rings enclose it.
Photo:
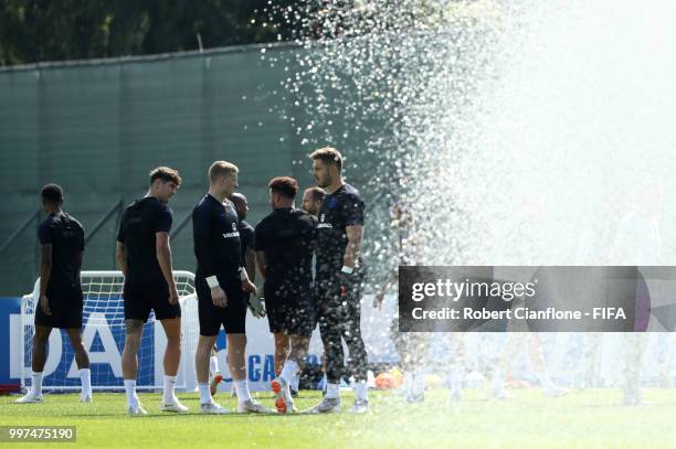
M 317 276 L 315 304 L 326 352 L 327 393 L 313 413 L 340 409 L 340 375 L 344 366 L 341 338 L 350 352 L 355 377 L 353 413 L 369 407 L 367 352 L 361 339 L 361 289 L 366 270 L 359 258 L 365 204 L 359 192 L 342 181 L 342 157 L 334 148 L 310 154 L 317 185 L 326 192 L 317 224 Z

